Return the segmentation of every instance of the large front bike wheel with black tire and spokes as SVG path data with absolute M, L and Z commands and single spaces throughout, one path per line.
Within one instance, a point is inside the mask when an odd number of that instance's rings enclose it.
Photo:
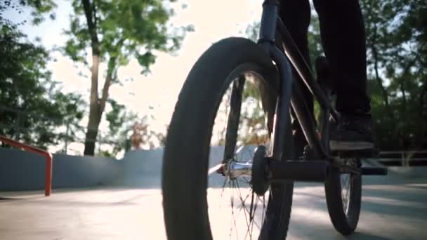
M 268 154 L 277 84 L 272 61 L 247 39 L 219 41 L 196 62 L 164 150 L 168 239 L 286 237 L 293 184 L 271 185 L 258 196 L 251 178 L 254 154 Z

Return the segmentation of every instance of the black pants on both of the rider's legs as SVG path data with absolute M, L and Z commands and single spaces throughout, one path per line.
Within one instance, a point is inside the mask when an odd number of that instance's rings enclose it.
M 369 112 L 366 73 L 366 36 L 357 0 L 313 0 L 320 20 L 322 46 L 336 84 L 339 112 Z M 307 31 L 310 25 L 308 0 L 281 0 L 280 18 L 308 62 Z M 304 89 L 310 109 L 313 96 Z M 299 132 L 299 133 L 298 133 Z M 304 140 L 301 129 L 296 138 Z M 298 139 L 296 139 L 298 140 Z

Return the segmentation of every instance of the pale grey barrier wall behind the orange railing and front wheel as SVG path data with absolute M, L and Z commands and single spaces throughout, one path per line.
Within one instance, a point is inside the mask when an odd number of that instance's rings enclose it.
M 253 149 L 248 147 L 239 156 L 250 156 Z M 221 146 L 211 148 L 209 168 L 221 163 L 223 151 Z M 163 149 L 130 151 L 119 160 L 53 154 L 52 187 L 119 185 L 158 188 L 161 183 L 162 156 Z M 188 167 L 191 168 L 190 165 Z M 43 156 L 18 149 L 0 149 L 0 191 L 43 189 L 44 174 Z M 209 176 L 209 185 L 221 187 L 223 178 L 212 174 Z

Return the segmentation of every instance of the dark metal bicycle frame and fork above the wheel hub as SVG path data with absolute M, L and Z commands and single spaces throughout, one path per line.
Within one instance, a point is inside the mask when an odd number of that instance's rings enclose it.
M 278 11 L 279 3 L 277 0 L 264 1 L 258 39 L 258 45 L 275 61 L 280 74 L 280 94 L 277 100 L 276 120 L 272 134 L 272 158 L 282 159 L 283 146 L 286 144 L 284 142 L 284 130 L 289 126 L 289 109 L 292 107 L 310 148 L 320 159 L 332 161 L 333 158 L 328 154 L 326 142 L 329 139 L 329 116 L 332 116 L 337 121 L 339 114 L 331 106 L 329 97 L 324 93 L 320 84 L 315 81 L 310 67 L 308 67 L 287 28 L 280 20 Z M 281 37 L 284 53 L 275 45 L 277 33 Z M 322 112 L 320 121 L 321 138 L 315 127 L 313 113 L 308 110 L 306 100 L 301 93 L 301 81 L 294 78 L 292 69 L 301 76 L 303 83 L 320 104 Z M 296 81 L 294 81 L 295 79 Z M 280 121 L 277 119 L 280 119 Z

